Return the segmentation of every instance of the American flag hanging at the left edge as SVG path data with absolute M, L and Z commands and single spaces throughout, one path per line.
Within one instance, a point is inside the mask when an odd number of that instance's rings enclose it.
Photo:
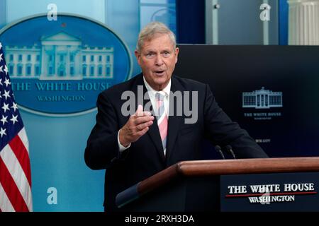
M 0 211 L 33 211 L 28 137 L 0 42 Z

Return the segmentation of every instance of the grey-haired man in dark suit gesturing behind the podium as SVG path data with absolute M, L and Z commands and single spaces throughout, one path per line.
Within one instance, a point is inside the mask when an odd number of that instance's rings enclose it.
M 119 210 L 116 195 L 143 179 L 203 159 L 203 138 L 231 145 L 237 158 L 267 157 L 218 107 L 208 85 L 173 76 L 178 54 L 174 33 L 162 23 L 148 24 L 135 50 L 142 73 L 98 97 L 84 158 L 91 169 L 106 169 L 105 210 Z

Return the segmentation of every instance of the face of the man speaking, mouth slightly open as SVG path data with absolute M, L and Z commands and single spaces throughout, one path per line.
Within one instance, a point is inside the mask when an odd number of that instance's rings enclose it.
M 167 34 L 155 35 L 144 42 L 140 52 L 135 51 L 145 80 L 155 90 L 162 90 L 169 83 L 178 54 L 179 49 L 174 49 Z

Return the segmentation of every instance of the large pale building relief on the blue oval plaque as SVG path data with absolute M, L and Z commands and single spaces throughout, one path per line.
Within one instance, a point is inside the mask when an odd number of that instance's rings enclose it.
M 113 47 L 89 47 L 66 32 L 40 38 L 40 47 L 6 46 L 11 78 L 81 80 L 113 78 Z

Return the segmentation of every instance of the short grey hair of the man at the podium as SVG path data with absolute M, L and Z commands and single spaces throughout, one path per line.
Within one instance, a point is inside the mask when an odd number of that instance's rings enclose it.
M 136 50 L 140 52 L 145 41 L 152 40 L 157 34 L 167 34 L 172 42 L 174 49 L 176 48 L 176 38 L 172 30 L 169 30 L 164 23 L 152 22 L 147 24 L 138 35 L 138 43 L 136 44 Z

